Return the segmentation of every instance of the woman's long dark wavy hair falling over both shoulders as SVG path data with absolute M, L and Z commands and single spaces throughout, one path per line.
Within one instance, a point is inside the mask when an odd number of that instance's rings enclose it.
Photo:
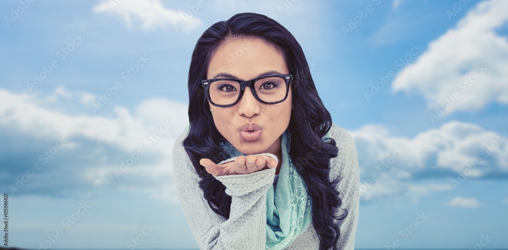
M 229 218 L 231 197 L 225 193 L 226 187 L 199 161 L 208 158 L 218 163 L 230 157 L 219 146 L 218 142 L 225 139 L 215 128 L 201 80 L 206 79 L 212 53 L 232 38 L 261 39 L 274 45 L 295 77 L 291 84 L 294 108 L 289 123 L 290 157 L 312 201 L 312 224 L 320 239 L 320 249 L 336 249 L 340 230 L 334 219 L 342 220 L 347 210 L 343 216 L 335 216 L 342 203 L 336 190 L 340 179 L 329 180 L 329 162 L 330 158 L 337 157 L 338 148 L 332 138 L 322 139 L 331 129 L 332 118 L 317 95 L 300 44 L 288 29 L 265 15 L 241 13 L 217 22 L 205 30 L 194 48 L 188 74 L 189 132 L 182 144 L 201 177 L 199 187 L 204 198 L 215 213 L 225 220 Z

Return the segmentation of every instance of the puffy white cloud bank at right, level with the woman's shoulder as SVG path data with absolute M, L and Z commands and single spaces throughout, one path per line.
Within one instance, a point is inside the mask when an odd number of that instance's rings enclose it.
M 366 168 L 362 173 L 367 176 L 382 170 L 391 174 L 406 171 L 399 175 L 407 178 L 410 173 L 430 167 L 460 172 L 480 157 L 481 164 L 471 175 L 480 177 L 491 170 L 508 171 L 508 140 L 500 132 L 503 131 L 485 131 L 475 124 L 451 121 L 414 138 L 393 136 L 384 126 L 372 124 L 351 135 Z

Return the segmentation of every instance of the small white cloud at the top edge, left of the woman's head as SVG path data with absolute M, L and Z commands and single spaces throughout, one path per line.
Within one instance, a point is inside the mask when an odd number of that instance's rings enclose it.
M 141 20 L 141 28 L 148 30 L 157 27 L 171 27 L 176 31 L 192 30 L 201 25 L 202 21 L 196 16 L 197 9 L 172 10 L 164 7 L 160 0 L 123 0 L 103 1 L 93 8 L 93 12 L 111 12 L 123 18 L 125 25 L 132 27 L 132 19 Z M 196 13 L 195 13 L 196 12 Z

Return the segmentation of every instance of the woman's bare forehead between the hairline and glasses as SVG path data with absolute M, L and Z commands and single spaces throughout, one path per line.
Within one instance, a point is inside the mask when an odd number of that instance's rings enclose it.
M 207 78 L 226 73 L 248 80 L 269 71 L 289 74 L 282 53 L 261 39 L 236 38 L 227 40 L 212 53 Z

